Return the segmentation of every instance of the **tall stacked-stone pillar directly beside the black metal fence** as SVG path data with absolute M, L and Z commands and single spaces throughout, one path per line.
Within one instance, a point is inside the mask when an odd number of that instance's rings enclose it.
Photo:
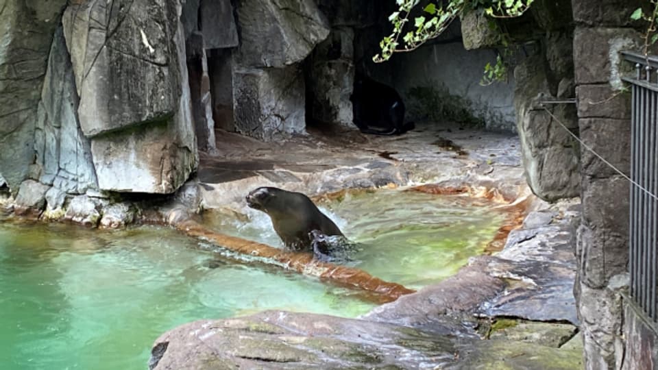
M 574 69 L 581 140 L 629 172 L 630 102 L 619 93 L 619 54 L 639 50 L 629 14 L 641 1 L 572 1 Z M 574 293 L 581 319 L 586 369 L 619 369 L 624 360 L 624 300 L 628 285 L 629 182 L 581 149 L 583 217 L 578 228 Z M 631 343 L 631 346 L 636 345 Z M 638 364 L 639 365 L 639 364 Z M 640 369 L 643 367 L 631 366 Z M 647 367 L 648 369 L 648 367 Z

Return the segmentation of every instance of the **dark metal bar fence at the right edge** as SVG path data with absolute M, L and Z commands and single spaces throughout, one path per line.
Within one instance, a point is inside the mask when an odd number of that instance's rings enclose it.
M 631 297 L 657 320 L 658 314 L 658 57 L 624 52 L 635 64 L 631 84 Z

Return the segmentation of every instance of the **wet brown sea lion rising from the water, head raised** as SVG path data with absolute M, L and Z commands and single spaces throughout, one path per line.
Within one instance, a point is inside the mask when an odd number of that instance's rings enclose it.
M 246 197 L 247 206 L 269 216 L 274 231 L 288 249 L 313 251 L 310 232 L 343 236 L 343 232 L 306 195 L 273 187 L 260 187 Z

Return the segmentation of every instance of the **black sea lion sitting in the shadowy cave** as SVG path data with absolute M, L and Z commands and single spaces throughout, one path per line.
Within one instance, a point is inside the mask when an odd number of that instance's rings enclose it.
M 365 134 L 399 135 L 415 127 L 413 122 L 404 123 L 405 109 L 400 94 L 363 73 L 354 75 L 350 101 L 354 125 Z

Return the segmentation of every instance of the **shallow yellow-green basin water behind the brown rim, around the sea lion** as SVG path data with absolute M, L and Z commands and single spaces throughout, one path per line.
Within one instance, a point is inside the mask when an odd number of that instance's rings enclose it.
M 437 196 L 399 189 L 347 193 L 319 208 L 361 243 L 355 267 L 409 288 L 440 282 L 481 254 L 504 221 L 487 199 Z M 208 214 L 208 227 L 281 246 L 269 217 L 247 209 L 249 220 Z

